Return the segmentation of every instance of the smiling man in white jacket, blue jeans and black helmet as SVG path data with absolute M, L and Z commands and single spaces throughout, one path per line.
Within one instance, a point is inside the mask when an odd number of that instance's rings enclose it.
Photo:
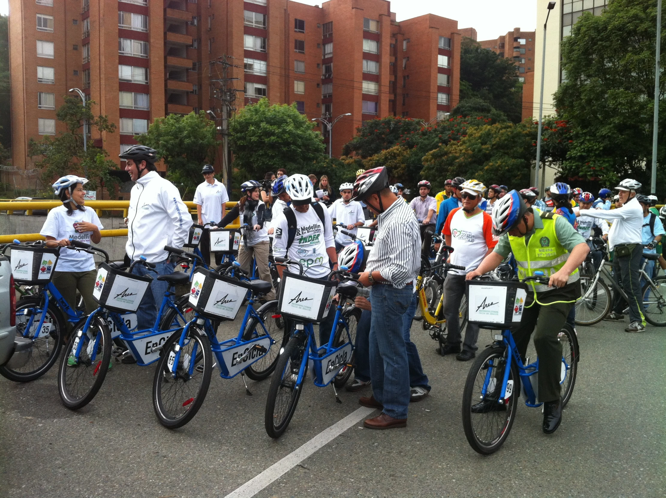
M 127 244 L 125 251 L 131 261 L 145 256 L 155 264 L 157 275 L 144 265 L 136 265 L 132 273 L 151 275 L 151 291 L 143 296 L 137 310 L 139 329 L 151 329 L 157 318 L 168 283 L 157 280 L 158 275 L 173 273 L 175 264 L 168 261 L 165 245 L 180 249 L 192 226 L 192 217 L 180 199 L 178 189 L 157 173 L 154 162 L 157 153 L 145 145 L 133 145 L 119 155 L 127 161 L 125 171 L 135 181 L 127 211 Z

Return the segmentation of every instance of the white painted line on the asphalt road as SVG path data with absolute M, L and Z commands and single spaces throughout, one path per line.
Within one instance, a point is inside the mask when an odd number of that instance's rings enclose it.
M 328 427 L 328 429 L 324 429 L 324 431 L 318 433 L 318 435 L 310 439 L 310 441 L 298 449 L 295 449 L 282 460 L 274 463 L 268 467 L 268 469 L 259 475 L 256 475 L 224 498 L 252 498 L 256 493 L 264 489 L 264 487 L 296 467 L 296 465 L 304 461 L 304 459 L 312 455 L 312 453 L 320 449 L 322 446 L 326 445 L 326 443 L 338 437 L 361 419 L 368 417 L 373 411 L 373 408 L 366 407 L 360 407 L 358 410 L 353 411 L 344 417 L 344 419 L 334 423 Z

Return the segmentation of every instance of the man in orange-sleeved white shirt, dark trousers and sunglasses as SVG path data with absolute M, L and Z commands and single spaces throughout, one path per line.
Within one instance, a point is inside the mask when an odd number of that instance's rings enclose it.
M 479 207 L 486 191 L 484 184 L 477 180 L 468 180 L 460 187 L 462 187 L 460 192 L 462 207 L 457 207 L 449 213 L 442 233 L 446 245 L 454 248 L 449 263 L 463 266 L 465 271 L 452 269 L 446 275 L 443 311 L 448 336 L 446 344 L 438 349 L 442 356 L 458 353 L 456 359 L 468 361 L 476 356 L 479 326 L 468 323 L 461 351 L 458 317 L 460 301 L 465 295 L 465 275 L 475 270 L 484 257 L 492 252 L 498 239 L 492 233 L 492 218 Z

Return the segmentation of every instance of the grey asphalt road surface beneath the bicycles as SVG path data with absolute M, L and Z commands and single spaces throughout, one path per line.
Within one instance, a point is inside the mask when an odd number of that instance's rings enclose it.
M 256 497 L 666 496 L 666 329 L 578 327 L 575 390 L 554 435 L 519 403 L 498 453 L 467 443 L 460 404 L 470 363 L 442 358 L 414 322 L 432 393 L 412 403 L 406 429 L 354 424 Z M 479 343 L 490 343 L 482 331 Z M 306 385 L 278 441 L 264 431 L 268 381 L 214 377 L 194 420 L 176 431 L 155 418 L 154 368 L 117 364 L 93 402 L 72 412 L 57 367 L 28 384 L 0 377 L 0 496 L 224 497 L 358 409 L 359 393 Z M 368 391 L 369 392 L 369 391 Z

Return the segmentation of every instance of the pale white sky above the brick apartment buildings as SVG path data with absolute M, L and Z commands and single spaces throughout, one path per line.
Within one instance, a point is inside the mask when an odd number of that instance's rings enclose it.
M 321 5 L 322 0 L 298 0 Z M 428 13 L 456 19 L 458 27 L 473 27 L 478 39 L 489 40 L 519 27 L 533 31 L 536 26 L 535 0 L 392 0 L 391 10 L 398 21 Z M 9 13 L 9 0 L 0 0 L 0 14 Z

